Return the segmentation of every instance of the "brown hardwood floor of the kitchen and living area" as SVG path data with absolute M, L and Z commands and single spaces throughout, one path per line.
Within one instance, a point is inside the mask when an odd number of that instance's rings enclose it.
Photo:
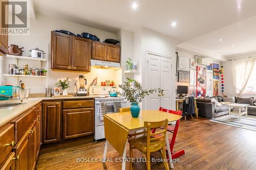
M 169 133 L 171 136 L 172 134 Z M 121 169 L 121 162 L 76 162 L 76 158 L 102 158 L 105 141 L 83 144 L 81 141 L 43 148 L 37 169 Z M 62 149 L 61 149 L 62 148 Z M 202 117 L 181 120 L 174 151 L 184 149 L 185 155 L 174 164 L 175 169 L 256 169 L 256 132 L 210 122 Z M 129 146 L 126 151 L 129 156 Z M 160 152 L 152 155 L 160 158 Z M 134 150 L 134 156 L 142 157 Z M 121 156 L 109 147 L 107 157 Z M 136 162 L 134 169 L 146 169 Z M 129 169 L 129 163 L 126 163 Z M 151 169 L 164 169 L 163 163 L 152 163 Z

